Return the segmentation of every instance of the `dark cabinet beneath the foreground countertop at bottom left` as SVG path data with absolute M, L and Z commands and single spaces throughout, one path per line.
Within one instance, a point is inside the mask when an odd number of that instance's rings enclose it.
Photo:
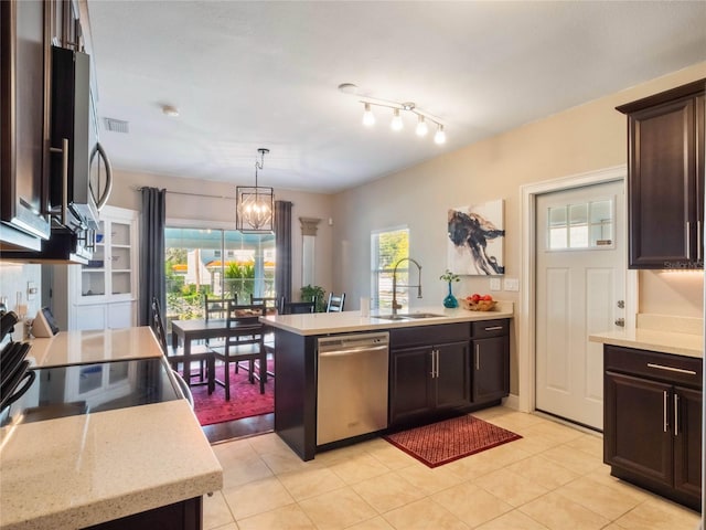
M 201 530 L 203 504 L 201 497 L 186 499 L 153 510 L 103 522 L 84 530 Z

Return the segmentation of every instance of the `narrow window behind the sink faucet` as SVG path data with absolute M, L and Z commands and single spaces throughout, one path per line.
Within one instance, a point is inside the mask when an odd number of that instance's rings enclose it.
M 409 230 L 395 229 L 373 232 L 371 235 L 372 282 L 371 298 L 374 309 L 392 309 L 393 301 L 393 268 L 395 264 L 409 257 Z M 405 262 L 397 269 L 398 286 L 408 285 L 407 265 Z M 397 288 L 397 301 L 407 308 L 408 289 Z

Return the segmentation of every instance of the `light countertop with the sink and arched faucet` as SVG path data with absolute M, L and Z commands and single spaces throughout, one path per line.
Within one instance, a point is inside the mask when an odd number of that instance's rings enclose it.
M 381 311 L 383 312 L 383 311 Z M 440 324 L 470 322 L 473 320 L 491 320 L 495 318 L 512 318 L 513 304 L 499 301 L 493 311 L 469 311 L 466 309 L 447 309 L 441 306 L 416 307 L 404 312 L 429 312 L 439 315 L 431 318 L 410 318 L 407 320 L 387 320 L 375 318 L 377 311 L 371 316 L 362 316 L 361 311 L 314 312 L 304 315 L 269 315 L 260 320 L 269 326 L 297 335 L 328 335 L 352 331 L 375 331 L 393 328 L 410 328 L 419 326 L 436 326 Z M 384 311 L 389 314 L 389 311 Z

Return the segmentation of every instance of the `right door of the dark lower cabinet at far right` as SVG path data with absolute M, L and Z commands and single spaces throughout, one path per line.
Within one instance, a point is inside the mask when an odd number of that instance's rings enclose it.
M 697 499 L 702 495 L 702 392 L 681 386 L 672 396 L 674 488 Z

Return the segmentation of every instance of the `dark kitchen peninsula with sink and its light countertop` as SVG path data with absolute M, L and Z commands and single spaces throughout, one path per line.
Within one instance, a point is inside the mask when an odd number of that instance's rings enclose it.
M 275 432 L 303 460 L 327 448 L 317 438 L 322 386 L 319 343 L 335 337 L 382 340 L 379 335 L 388 333 L 385 368 L 389 368 L 389 377 L 383 378 L 385 389 L 381 394 L 387 399 L 371 406 L 383 407 L 389 428 L 500 403 L 509 392 L 512 317 L 511 303 L 499 303 L 493 311 L 424 307 L 397 317 L 375 312 L 362 316 L 360 311 L 261 317 L 275 329 L 275 370 L 279 374 L 275 384 Z M 332 400 L 342 405 L 356 401 L 346 400 L 343 388 L 367 382 L 367 375 L 361 377 L 352 365 L 328 373 L 335 378 L 334 386 L 341 388 Z M 359 395 L 366 398 L 368 393 L 365 390 Z M 325 404 L 330 401 L 327 399 Z M 349 412 L 341 410 L 339 416 Z M 359 420 L 338 418 L 350 425 Z M 351 441 L 355 438 L 336 444 Z

